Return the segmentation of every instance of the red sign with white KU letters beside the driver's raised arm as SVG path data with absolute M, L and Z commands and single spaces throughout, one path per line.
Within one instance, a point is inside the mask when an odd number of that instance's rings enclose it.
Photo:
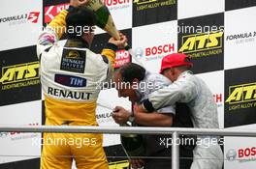
M 62 10 L 67 10 L 68 8 L 69 8 L 69 3 L 46 7 L 45 23 L 49 23 L 55 15 L 59 14 Z

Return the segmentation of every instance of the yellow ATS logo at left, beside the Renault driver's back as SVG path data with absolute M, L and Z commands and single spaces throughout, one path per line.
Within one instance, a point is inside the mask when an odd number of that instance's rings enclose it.
M 2 68 L 2 90 L 40 84 L 39 62 L 31 62 Z

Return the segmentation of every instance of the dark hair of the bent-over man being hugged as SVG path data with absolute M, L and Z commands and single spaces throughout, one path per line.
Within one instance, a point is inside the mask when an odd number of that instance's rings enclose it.
M 118 72 L 122 76 L 122 80 L 124 82 L 130 82 L 137 78 L 139 81 L 144 79 L 145 70 L 140 65 L 134 63 L 124 64 L 122 67 L 118 69 Z

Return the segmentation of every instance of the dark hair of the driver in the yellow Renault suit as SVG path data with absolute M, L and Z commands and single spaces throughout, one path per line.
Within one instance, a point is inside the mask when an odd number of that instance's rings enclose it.
M 66 16 L 67 36 L 70 39 L 82 37 L 84 32 L 78 32 L 78 28 L 89 28 L 96 24 L 96 14 L 84 7 L 73 8 Z M 73 29 L 73 30 L 71 30 Z M 76 31 L 74 31 L 76 30 Z

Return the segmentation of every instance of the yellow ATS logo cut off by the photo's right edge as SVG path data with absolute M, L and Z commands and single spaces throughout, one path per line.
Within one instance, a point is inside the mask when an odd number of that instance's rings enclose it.
M 256 107 L 256 82 L 229 87 L 229 110 Z

